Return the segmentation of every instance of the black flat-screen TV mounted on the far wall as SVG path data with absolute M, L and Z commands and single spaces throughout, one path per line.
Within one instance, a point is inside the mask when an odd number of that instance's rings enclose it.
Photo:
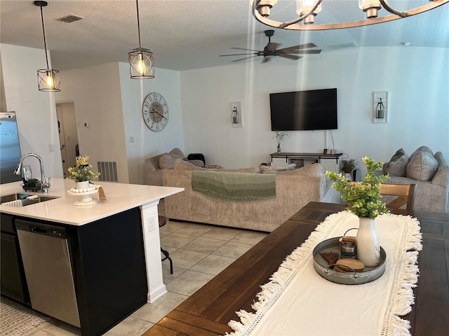
M 272 131 L 336 130 L 337 89 L 269 94 Z

